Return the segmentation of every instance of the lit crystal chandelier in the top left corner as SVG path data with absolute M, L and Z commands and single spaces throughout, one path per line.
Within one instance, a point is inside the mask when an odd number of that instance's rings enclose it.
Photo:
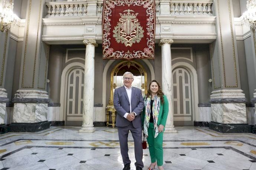
M 6 0 L 0 1 L 0 18 L 1 18 L 1 25 L 0 30 L 7 31 L 9 30 L 13 24 L 16 24 L 17 17 L 13 14 L 13 3 L 10 0 L 8 3 Z

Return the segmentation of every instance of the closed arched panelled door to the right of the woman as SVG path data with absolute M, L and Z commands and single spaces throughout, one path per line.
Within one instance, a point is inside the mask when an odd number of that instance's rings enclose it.
M 193 121 L 198 118 L 196 70 L 184 62 L 172 67 L 174 126 L 193 126 Z

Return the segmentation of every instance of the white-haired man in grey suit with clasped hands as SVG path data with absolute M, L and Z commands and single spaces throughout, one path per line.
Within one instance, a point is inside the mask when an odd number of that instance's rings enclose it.
M 114 107 L 117 112 L 116 126 L 118 127 L 118 136 L 121 149 L 121 155 L 124 163 L 123 170 L 129 170 L 131 160 L 128 156 L 128 133 L 132 133 L 134 139 L 135 166 L 136 170 L 142 170 L 142 123 L 141 111 L 144 108 L 144 100 L 141 89 L 132 87 L 134 78 L 131 72 L 125 72 L 123 75 L 124 86 L 115 89 Z

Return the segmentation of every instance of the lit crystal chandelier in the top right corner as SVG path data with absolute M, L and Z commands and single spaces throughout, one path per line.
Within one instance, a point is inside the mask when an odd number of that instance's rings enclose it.
M 247 11 L 243 13 L 243 23 L 256 29 L 256 0 L 247 0 Z

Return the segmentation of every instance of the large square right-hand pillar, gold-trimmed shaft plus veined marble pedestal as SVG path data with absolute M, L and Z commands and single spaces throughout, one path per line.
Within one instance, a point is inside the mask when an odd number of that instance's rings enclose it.
M 223 133 L 250 133 L 245 98 L 240 85 L 232 0 L 214 0 L 217 39 L 210 45 L 213 91 L 209 129 Z

